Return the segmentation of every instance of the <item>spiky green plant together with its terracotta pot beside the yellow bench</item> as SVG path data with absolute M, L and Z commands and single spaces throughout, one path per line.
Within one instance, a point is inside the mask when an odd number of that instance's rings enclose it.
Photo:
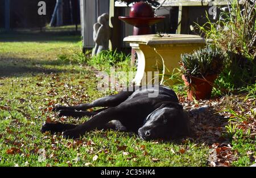
M 188 99 L 209 99 L 214 80 L 222 71 L 224 54 L 218 48 L 207 46 L 191 54 L 181 55 L 181 73 L 188 86 Z

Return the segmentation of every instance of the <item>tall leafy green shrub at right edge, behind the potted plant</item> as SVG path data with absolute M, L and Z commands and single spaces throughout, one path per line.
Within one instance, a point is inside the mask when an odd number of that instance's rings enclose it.
M 255 83 L 256 77 L 256 22 L 255 1 L 238 1 L 221 9 L 220 19 L 203 26 L 197 24 L 202 35 L 223 50 L 226 62 L 223 72 L 216 80 L 221 88 L 240 88 Z

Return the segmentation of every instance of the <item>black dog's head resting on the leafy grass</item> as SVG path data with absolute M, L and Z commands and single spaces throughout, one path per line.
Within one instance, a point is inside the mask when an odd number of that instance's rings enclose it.
M 146 141 L 159 138 L 174 139 L 189 133 L 188 116 L 179 103 L 162 104 L 147 116 L 138 130 L 139 137 Z

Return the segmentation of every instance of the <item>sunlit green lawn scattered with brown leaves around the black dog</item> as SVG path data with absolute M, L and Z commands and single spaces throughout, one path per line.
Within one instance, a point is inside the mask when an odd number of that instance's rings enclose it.
M 78 35 L 52 31 L 0 33 L 0 166 L 209 166 L 209 146 L 189 139 L 145 142 L 135 134 L 97 130 L 74 141 L 40 133 L 48 118 L 77 124 L 89 119 L 57 118 L 54 105 L 113 93 L 97 90 L 95 72 L 113 64 L 82 57 Z M 129 69 L 127 60 L 115 62 L 117 70 Z M 39 149 L 46 151 L 44 162 L 39 162 Z M 242 156 L 234 166 L 249 163 Z

